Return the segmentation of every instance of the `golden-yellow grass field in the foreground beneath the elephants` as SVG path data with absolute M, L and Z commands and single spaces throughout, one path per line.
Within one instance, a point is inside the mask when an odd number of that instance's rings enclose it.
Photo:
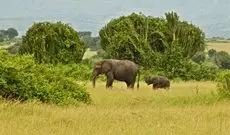
M 218 101 L 213 82 L 172 83 L 169 91 L 112 90 L 87 84 L 92 105 L 58 107 L 0 103 L 1 135 L 229 135 L 230 102 Z

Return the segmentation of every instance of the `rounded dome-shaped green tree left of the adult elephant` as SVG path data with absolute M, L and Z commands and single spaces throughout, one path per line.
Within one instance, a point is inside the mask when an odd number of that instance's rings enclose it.
M 86 51 L 84 42 L 69 25 L 35 23 L 23 38 L 20 54 L 33 54 L 38 63 L 79 63 Z

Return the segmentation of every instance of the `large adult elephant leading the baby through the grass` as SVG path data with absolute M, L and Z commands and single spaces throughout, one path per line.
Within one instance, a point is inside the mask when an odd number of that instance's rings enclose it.
M 130 60 L 105 59 L 94 63 L 93 67 L 93 87 L 98 75 L 106 76 L 106 88 L 112 88 L 114 80 L 124 81 L 127 88 L 134 88 L 136 76 L 138 75 L 137 89 L 139 89 L 140 71 L 137 64 Z

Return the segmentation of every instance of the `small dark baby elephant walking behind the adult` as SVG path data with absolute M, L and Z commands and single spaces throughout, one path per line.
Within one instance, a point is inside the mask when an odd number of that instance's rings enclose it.
M 153 84 L 153 89 L 164 88 L 168 90 L 170 88 L 170 81 L 164 76 L 148 76 L 145 77 L 145 82 L 148 85 Z

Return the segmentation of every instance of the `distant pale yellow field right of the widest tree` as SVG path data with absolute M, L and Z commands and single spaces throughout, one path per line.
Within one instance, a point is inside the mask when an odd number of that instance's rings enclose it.
M 208 49 L 215 49 L 217 51 L 226 51 L 230 53 L 230 43 L 207 43 Z

